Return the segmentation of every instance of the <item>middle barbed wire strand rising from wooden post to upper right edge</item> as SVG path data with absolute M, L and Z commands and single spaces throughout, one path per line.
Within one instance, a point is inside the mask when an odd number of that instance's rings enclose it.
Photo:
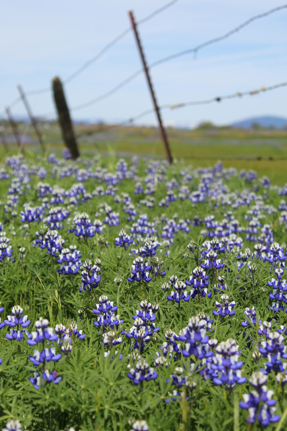
M 260 19 L 260 18 L 264 18 L 265 16 L 268 16 L 274 12 L 277 12 L 281 9 L 286 9 L 287 8 L 287 4 L 283 5 L 283 6 L 278 6 L 274 9 L 269 10 L 268 12 L 264 12 L 261 13 L 259 15 L 253 16 L 250 19 L 248 19 L 247 21 L 245 21 L 244 23 L 242 23 L 241 25 L 239 25 L 238 27 L 235 27 L 234 29 L 228 31 L 228 33 L 225 33 L 224 35 L 220 36 L 220 37 L 216 37 L 213 39 L 210 39 L 206 42 L 204 42 L 201 45 L 198 45 L 197 47 L 191 48 L 189 50 L 185 50 L 185 51 L 180 51 L 179 53 L 176 54 L 172 54 L 170 56 L 164 57 L 160 60 L 157 60 L 155 62 L 152 62 L 149 65 L 149 68 L 153 68 L 155 66 L 158 66 L 164 62 L 170 61 L 171 59 L 177 58 L 179 56 L 183 56 L 186 55 L 188 53 L 192 53 L 192 52 L 198 52 L 198 50 L 202 49 L 203 47 L 206 47 L 207 45 L 222 41 L 223 39 L 226 39 L 227 37 L 231 36 L 232 34 L 234 34 L 235 32 L 239 31 L 241 28 L 246 27 L 248 24 L 250 24 L 251 22 L 255 21 L 256 19 Z M 85 103 L 81 103 L 79 105 L 73 106 L 71 108 L 71 111 L 75 111 L 75 110 L 79 110 L 79 109 L 83 109 L 86 108 L 88 106 L 94 105 L 96 103 L 99 103 L 101 100 L 106 99 L 107 97 L 111 96 L 112 94 L 116 93 L 118 90 L 120 90 L 120 88 L 125 87 L 127 84 L 130 83 L 130 81 L 133 81 L 133 79 L 135 79 L 137 76 L 139 76 L 141 73 L 143 72 L 143 69 L 139 69 L 136 72 L 134 72 L 132 75 L 130 75 L 128 78 L 124 79 L 123 81 L 121 81 L 119 84 L 117 84 L 115 87 L 111 88 L 111 90 L 106 91 L 105 93 L 101 94 L 98 97 L 95 97 L 92 100 L 89 100 Z

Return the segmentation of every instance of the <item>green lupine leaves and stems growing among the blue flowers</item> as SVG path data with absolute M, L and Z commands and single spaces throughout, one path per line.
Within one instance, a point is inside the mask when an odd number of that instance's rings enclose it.
M 98 167 L 115 169 L 115 159 L 100 160 Z M 76 182 L 74 178 L 59 179 L 59 175 L 51 173 L 51 165 L 43 161 L 42 166 L 48 171 L 45 181 L 49 184 L 59 184 L 66 190 Z M 71 162 L 71 166 L 76 166 Z M 86 169 L 86 165 L 80 167 Z M 93 166 L 95 170 L 95 166 Z M 145 167 L 140 165 L 139 178 L 144 178 Z M 192 171 L 191 171 L 192 172 Z M 167 178 L 181 178 L 181 172 L 177 167 L 169 168 Z M 96 306 L 96 300 L 92 292 L 80 293 L 80 273 L 72 278 L 64 274 L 58 274 L 59 268 L 57 259 L 53 258 L 53 265 L 46 250 L 33 247 L 32 242 L 36 238 L 36 231 L 40 230 L 41 223 L 33 222 L 25 227 L 20 222 L 19 212 L 25 202 L 30 202 L 33 206 L 39 206 L 41 200 L 36 192 L 36 184 L 39 181 L 37 175 L 31 175 L 30 188 L 25 189 L 25 194 L 20 195 L 18 204 L 18 216 L 13 219 L 4 212 L 4 206 L 0 208 L 0 216 L 7 236 L 11 237 L 11 244 L 14 249 L 12 259 L 0 263 L 0 300 L 5 306 L 5 313 L 10 314 L 12 307 L 19 304 L 24 313 L 31 320 L 28 331 L 34 330 L 34 322 L 40 316 L 49 320 L 49 326 L 55 328 L 56 324 L 68 325 L 72 319 L 77 322 L 79 329 L 86 334 L 85 340 L 77 340 L 72 347 L 69 356 L 60 359 L 52 364 L 57 371 L 57 375 L 62 377 L 59 385 L 43 384 L 39 390 L 30 383 L 29 378 L 33 375 L 35 367 L 32 366 L 28 356 L 33 353 L 33 347 L 28 347 L 26 340 L 21 342 L 6 340 L 5 334 L 9 328 L 0 330 L 0 358 L 3 363 L 0 365 L 0 424 L 4 427 L 9 419 L 16 418 L 22 423 L 23 429 L 30 431 L 66 430 L 74 427 L 76 430 L 129 430 L 131 424 L 136 419 L 145 419 L 149 429 L 155 430 L 198 430 L 198 431 L 229 431 L 246 429 L 246 412 L 238 407 L 242 400 L 242 394 L 249 392 L 248 381 L 244 385 L 236 385 L 232 390 L 215 386 L 210 379 L 204 381 L 201 375 L 194 376 L 196 387 L 192 395 L 185 399 L 185 392 L 181 400 L 172 401 L 171 392 L 174 389 L 171 385 L 170 376 L 177 366 L 185 370 L 190 369 L 190 361 L 195 358 L 184 358 L 178 356 L 178 361 L 171 361 L 167 368 L 158 368 L 158 377 L 154 381 L 144 382 L 143 386 L 135 386 L 127 378 L 130 363 L 130 353 L 132 344 L 127 337 L 123 336 L 124 343 L 111 350 L 108 357 L 105 357 L 107 349 L 102 345 L 102 334 L 93 325 L 96 319 L 92 310 Z M 86 190 L 92 192 L 96 187 L 96 180 L 90 178 L 85 182 Z M 214 214 L 216 219 L 221 220 L 224 213 L 229 208 L 216 206 L 215 200 L 208 200 L 207 203 L 193 204 L 190 200 L 171 203 L 169 207 L 160 208 L 157 204 L 165 196 L 165 183 L 156 184 L 156 203 L 153 208 L 146 209 L 139 204 L 143 196 L 133 195 L 134 181 L 123 180 L 118 185 L 117 193 L 130 194 L 139 213 L 147 212 L 150 220 L 160 217 L 171 218 L 174 212 L 178 212 L 180 218 L 192 219 L 194 215 L 204 218 Z M 196 190 L 197 180 L 190 184 L 191 191 Z M 3 203 L 6 203 L 9 180 L 1 180 L 0 194 Z M 240 183 L 236 176 L 228 182 L 231 191 L 241 191 L 244 183 Z M 261 187 L 261 186 L 260 186 Z M 278 207 L 280 201 L 275 190 L 268 192 L 260 191 L 264 194 L 266 204 Z M 102 200 L 111 205 L 115 211 L 120 212 L 120 227 L 129 229 L 126 213 L 122 211 L 123 204 L 114 203 L 112 196 L 93 197 L 80 205 L 79 211 L 86 211 L 93 221 L 94 213 L 99 209 Z M 75 210 L 71 209 L 71 218 Z M 235 210 L 236 217 L 242 226 L 247 226 L 244 215 L 247 206 L 239 206 Z M 264 222 L 273 227 L 275 240 L 280 244 L 287 241 L 286 229 L 278 222 L 278 213 L 265 214 Z M 187 245 L 196 245 L 199 251 L 206 237 L 200 234 L 201 227 L 191 227 L 190 233 L 178 232 L 174 244 L 170 248 L 170 254 L 160 255 L 163 261 L 163 268 L 168 270 L 167 275 L 162 279 L 153 278 L 149 283 L 142 286 L 142 296 L 139 293 L 139 285 L 129 283 L 127 276 L 130 275 L 133 258 L 129 255 L 129 250 L 114 246 L 114 239 L 118 236 L 119 227 L 106 227 L 103 234 L 104 240 L 109 243 L 108 247 L 99 243 L 98 236 L 89 238 L 87 241 L 79 239 L 73 233 L 68 233 L 67 226 L 60 232 L 65 238 L 65 245 L 75 244 L 82 254 L 81 261 L 90 258 L 93 253 L 94 258 L 101 259 L 101 283 L 96 289 L 96 296 L 100 294 L 108 295 L 109 299 L 118 306 L 117 313 L 120 319 L 124 320 L 121 329 L 128 331 L 133 326 L 133 315 L 139 308 L 139 302 L 147 299 L 154 300 L 159 304 L 157 313 L 157 326 L 160 331 L 151 337 L 148 348 L 144 350 L 143 356 L 150 366 L 154 366 L 156 353 L 160 351 L 160 346 L 165 341 L 164 334 L 167 329 L 172 329 L 179 333 L 188 324 L 188 319 L 203 311 L 206 315 L 212 316 L 212 311 L 216 309 L 215 302 L 220 301 L 221 293 L 213 294 L 210 298 L 202 297 L 200 302 L 194 298 L 189 302 L 181 302 L 181 313 L 178 306 L 167 301 L 167 293 L 161 290 L 161 284 L 168 280 L 170 275 L 175 274 L 180 279 L 185 280 L 191 271 L 198 265 L 198 254 L 187 253 Z M 15 231 L 15 235 L 13 234 Z M 160 234 L 160 232 L 158 233 Z M 253 249 L 254 243 L 244 242 L 244 248 Z M 19 258 L 19 246 L 26 249 L 23 261 Z M 238 279 L 238 266 L 236 261 L 237 253 L 229 253 L 225 256 L 225 267 L 229 268 L 224 272 L 225 283 L 228 286 L 228 295 L 231 300 L 235 300 L 235 316 L 233 318 L 214 319 L 214 332 L 211 338 L 216 338 L 219 342 L 232 337 L 240 346 L 241 360 L 244 362 L 242 375 L 247 378 L 251 373 L 260 368 L 264 368 L 265 358 L 262 356 L 258 362 L 252 357 L 253 352 L 258 350 L 258 337 L 254 328 L 244 329 L 241 321 L 244 320 L 243 311 L 245 307 L 255 306 L 260 319 L 270 320 L 272 315 L 268 306 L 270 305 L 267 281 L 274 273 L 270 274 L 270 266 L 262 261 L 256 260 L 257 271 L 254 280 L 250 278 Z M 251 259 L 252 262 L 252 259 Z M 210 289 L 212 289 L 215 279 L 214 274 L 208 271 L 210 277 Z M 245 270 L 245 275 L 246 270 Z M 117 284 L 114 278 L 118 276 L 121 282 Z M 76 293 L 73 287 L 76 286 Z M 286 325 L 286 315 L 278 313 L 278 325 Z M 33 328 L 33 329 L 32 329 Z M 252 339 L 250 342 L 249 337 Z M 119 355 L 123 358 L 119 360 Z M 112 358 L 112 360 L 111 360 Z M 186 371 L 188 375 L 188 371 Z M 278 412 L 283 413 L 281 422 L 276 429 L 284 429 L 287 421 L 287 398 L 286 389 L 281 387 L 271 373 L 268 377 L 268 387 L 275 391 L 275 399 L 278 401 Z M 169 401 L 169 403 L 166 402 Z M 275 427 L 276 425 L 274 425 Z M 274 428 L 273 427 L 273 428 Z M 251 428 L 250 428 L 251 429 Z M 253 430 L 259 430 L 254 425 Z M 272 429 L 272 425 L 270 425 Z

